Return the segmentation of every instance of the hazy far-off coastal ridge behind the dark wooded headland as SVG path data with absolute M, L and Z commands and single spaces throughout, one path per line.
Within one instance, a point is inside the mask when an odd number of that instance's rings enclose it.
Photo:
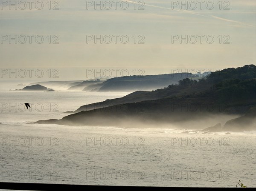
M 31 83 L 54 88 L 66 88 L 72 91 L 151 91 L 164 88 L 170 84 L 176 84 L 184 78 L 198 79 L 200 77 L 192 73 L 159 74 L 145 76 L 124 76 L 111 79 L 92 79 L 78 81 L 49 81 Z

